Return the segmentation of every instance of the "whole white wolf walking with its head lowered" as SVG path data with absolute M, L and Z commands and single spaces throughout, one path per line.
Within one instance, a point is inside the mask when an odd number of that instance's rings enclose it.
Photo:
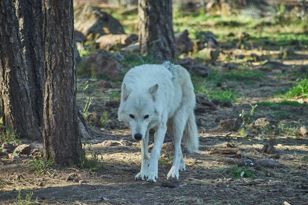
M 158 159 L 166 132 L 174 144 L 174 159 L 167 178 L 179 178 L 185 170 L 181 140 L 189 152 L 198 150 L 198 130 L 194 115 L 196 97 L 186 69 L 171 62 L 161 65 L 140 65 L 130 69 L 123 80 L 119 121 L 140 140 L 141 170 L 135 179 L 156 182 Z M 154 147 L 148 156 L 149 130 L 153 128 Z

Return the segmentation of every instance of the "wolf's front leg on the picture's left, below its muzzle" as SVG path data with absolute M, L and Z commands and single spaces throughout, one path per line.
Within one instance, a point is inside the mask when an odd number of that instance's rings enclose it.
M 140 141 L 141 146 L 141 169 L 140 172 L 135 176 L 135 180 L 145 180 L 145 174 L 148 171 L 149 154 L 148 154 L 148 143 L 149 143 L 149 130 L 145 133 L 144 139 Z

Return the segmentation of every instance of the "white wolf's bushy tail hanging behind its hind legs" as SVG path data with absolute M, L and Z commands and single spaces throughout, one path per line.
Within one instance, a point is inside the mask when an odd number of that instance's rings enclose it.
M 183 132 L 183 141 L 188 152 L 194 153 L 199 148 L 198 129 L 193 110 L 189 113 L 188 120 Z

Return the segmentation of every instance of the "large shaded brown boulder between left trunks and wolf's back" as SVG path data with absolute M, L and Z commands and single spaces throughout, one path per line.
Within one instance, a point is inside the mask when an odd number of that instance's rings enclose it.
M 96 50 L 92 55 L 83 57 L 80 65 L 84 66 L 84 74 L 91 76 L 93 70 L 97 77 L 108 77 L 112 80 L 123 78 L 121 65 L 115 58 L 119 59 L 119 53 L 109 53 L 106 50 Z

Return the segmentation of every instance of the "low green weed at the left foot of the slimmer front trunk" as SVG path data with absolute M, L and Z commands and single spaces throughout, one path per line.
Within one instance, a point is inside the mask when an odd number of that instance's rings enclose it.
M 42 175 L 48 173 L 49 175 L 57 173 L 58 171 L 51 168 L 54 162 L 51 159 L 45 161 L 43 158 L 33 159 L 29 162 L 29 168 L 34 171 L 36 175 Z

